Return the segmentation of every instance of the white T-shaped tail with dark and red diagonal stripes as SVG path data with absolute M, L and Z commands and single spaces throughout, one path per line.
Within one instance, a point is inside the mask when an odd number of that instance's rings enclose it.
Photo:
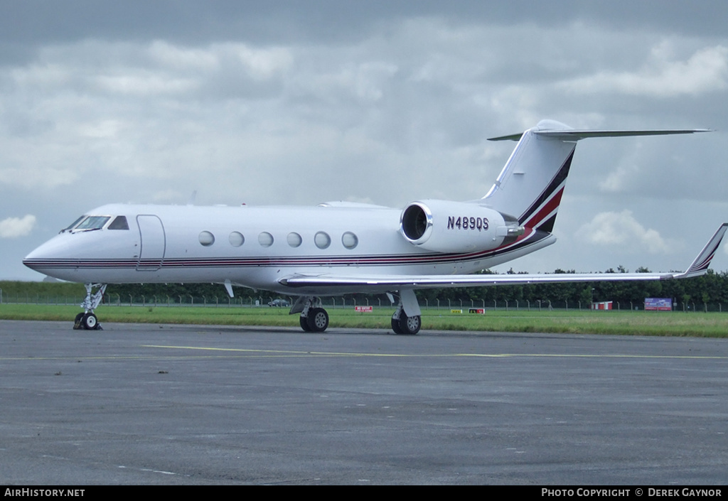
M 707 130 L 574 130 L 554 120 L 542 120 L 523 134 L 489 140 L 518 144 L 483 201 L 514 216 L 521 226 L 550 233 L 579 139 L 697 132 Z

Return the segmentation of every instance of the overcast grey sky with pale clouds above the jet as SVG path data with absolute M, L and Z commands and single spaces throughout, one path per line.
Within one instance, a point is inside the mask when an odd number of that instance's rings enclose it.
M 0 280 L 108 202 L 482 197 L 576 128 L 550 248 L 505 271 L 685 269 L 728 221 L 725 1 L 0 0 Z M 713 267 L 728 269 L 723 246 Z

